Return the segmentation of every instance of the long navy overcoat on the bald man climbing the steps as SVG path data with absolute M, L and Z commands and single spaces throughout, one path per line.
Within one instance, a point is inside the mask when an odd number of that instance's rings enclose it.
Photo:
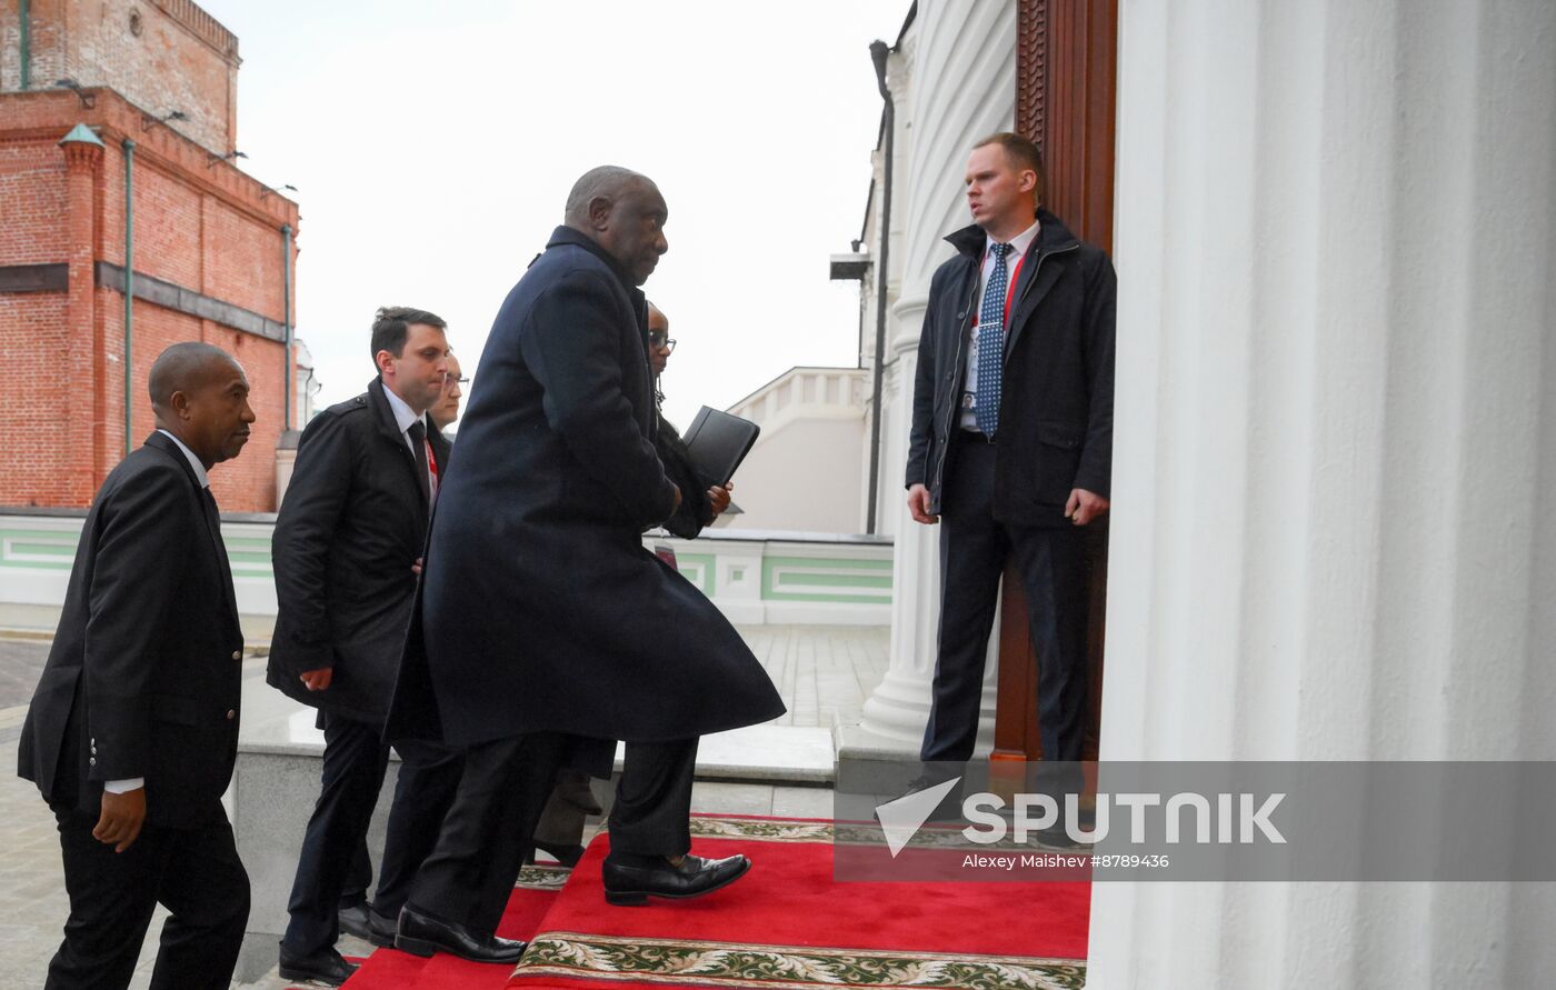
M 783 714 L 724 615 L 643 548 L 674 509 L 646 318 L 568 227 L 503 302 L 439 495 L 391 738 L 440 722 L 453 744 L 657 741 Z

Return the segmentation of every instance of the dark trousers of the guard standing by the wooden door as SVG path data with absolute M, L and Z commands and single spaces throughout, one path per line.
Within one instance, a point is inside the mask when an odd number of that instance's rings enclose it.
M 940 515 L 940 638 L 921 760 L 965 763 L 977 739 L 983 658 L 999 578 L 1015 557 L 1038 654 L 1043 758 L 1078 761 L 1086 711 L 1085 539 L 1078 526 L 994 520 L 994 445 L 960 434 L 948 455 Z

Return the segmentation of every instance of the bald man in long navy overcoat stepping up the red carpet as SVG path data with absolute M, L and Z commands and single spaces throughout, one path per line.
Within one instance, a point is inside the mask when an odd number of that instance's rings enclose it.
M 585 173 L 481 355 L 389 725 L 468 747 L 400 912 L 403 950 L 518 957 L 493 929 L 557 763 L 591 766 L 577 747 L 608 758 L 627 741 L 613 903 L 708 893 L 750 865 L 689 855 L 697 738 L 783 702 L 717 607 L 641 540 L 682 498 L 654 450 L 638 288 L 668 251 L 666 216 L 647 177 Z

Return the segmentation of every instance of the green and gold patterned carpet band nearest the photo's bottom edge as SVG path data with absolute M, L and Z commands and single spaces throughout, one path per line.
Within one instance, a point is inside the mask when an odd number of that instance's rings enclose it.
M 957 987 L 960 990 L 1081 990 L 1074 959 L 680 942 L 636 936 L 543 932 L 513 970 L 531 976 L 696 987 Z M 512 985 L 512 984 L 509 984 Z

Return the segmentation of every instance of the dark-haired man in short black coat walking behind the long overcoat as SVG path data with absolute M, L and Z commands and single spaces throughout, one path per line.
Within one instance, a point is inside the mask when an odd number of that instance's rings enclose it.
M 448 444 L 428 423 L 448 372 L 440 318 L 425 310 L 378 311 L 367 391 L 308 423 L 275 520 L 280 612 L 269 683 L 321 708 L 324 769 L 319 803 L 303 836 L 280 945 L 280 973 L 339 985 L 353 967 L 335 950 L 341 898 L 352 873 L 370 870 L 364 839 L 389 763 L 384 718 Z M 389 811 L 377 912 L 378 943 L 437 836 L 459 778 L 459 757 L 408 741 Z M 344 908 L 350 909 L 352 904 Z M 358 912 L 361 908 L 356 909 Z

